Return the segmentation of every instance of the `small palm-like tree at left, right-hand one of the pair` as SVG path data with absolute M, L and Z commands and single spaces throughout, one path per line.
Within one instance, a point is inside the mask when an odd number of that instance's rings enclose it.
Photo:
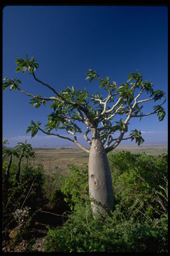
M 20 171 L 21 171 L 21 160 L 25 155 L 25 152 L 30 152 L 33 151 L 33 147 L 31 147 L 31 144 L 27 144 L 27 140 L 25 140 L 25 143 L 19 142 L 17 143 L 18 145 L 15 147 L 19 151 L 21 151 L 21 154 L 19 156 L 19 163 L 18 163 L 18 168 L 17 168 L 17 174 L 16 174 L 16 181 L 19 183 L 19 178 L 20 178 Z

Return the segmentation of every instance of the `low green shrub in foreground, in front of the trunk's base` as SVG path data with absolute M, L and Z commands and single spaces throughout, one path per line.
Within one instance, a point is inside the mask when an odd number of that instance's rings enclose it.
M 166 223 L 167 224 L 167 223 Z M 116 207 L 110 217 L 92 216 L 90 205 L 76 205 L 70 219 L 48 231 L 46 252 L 167 251 L 162 227 L 127 220 Z

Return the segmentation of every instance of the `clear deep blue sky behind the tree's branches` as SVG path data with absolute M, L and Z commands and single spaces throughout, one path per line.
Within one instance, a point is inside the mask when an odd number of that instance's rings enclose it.
M 25 59 L 26 53 L 39 63 L 37 77 L 58 92 L 72 85 L 87 87 L 90 93 L 99 91 L 98 83 L 85 81 L 88 69 L 118 85 L 138 69 L 144 80 L 150 79 L 155 89 L 167 95 L 167 7 L 7 6 L 3 9 L 3 77 L 21 79 L 21 89 L 27 92 L 54 96 L 29 73 L 15 73 L 16 57 Z M 32 119 L 45 125 L 50 114 L 48 107 L 31 107 L 30 99 L 19 91 L 3 91 L 3 139 L 11 147 L 25 139 L 33 147 L 66 145 L 67 141 L 41 132 L 33 139 L 26 134 Z M 146 112 L 153 105 L 148 103 Z M 167 103 L 164 108 L 167 111 Z M 145 143 L 166 143 L 167 115 L 161 122 L 156 115 L 141 122 L 135 119 L 131 129 L 142 131 Z

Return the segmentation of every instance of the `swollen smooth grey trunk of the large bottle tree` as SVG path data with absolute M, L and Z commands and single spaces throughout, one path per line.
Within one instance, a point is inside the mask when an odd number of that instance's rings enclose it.
M 107 215 L 114 207 L 114 192 L 108 157 L 97 129 L 92 128 L 92 145 L 88 163 L 88 184 L 93 213 Z M 100 205 L 103 205 L 102 207 Z

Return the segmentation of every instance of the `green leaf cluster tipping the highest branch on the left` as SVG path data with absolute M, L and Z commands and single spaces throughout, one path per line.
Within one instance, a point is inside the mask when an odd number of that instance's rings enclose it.
M 39 64 L 37 63 L 37 61 L 35 61 L 34 56 L 31 57 L 31 59 L 29 59 L 27 54 L 26 54 L 26 60 L 16 58 L 15 64 L 18 65 L 16 72 L 23 70 L 22 71 L 23 74 L 27 69 L 29 69 L 29 73 L 32 74 L 39 67 Z

